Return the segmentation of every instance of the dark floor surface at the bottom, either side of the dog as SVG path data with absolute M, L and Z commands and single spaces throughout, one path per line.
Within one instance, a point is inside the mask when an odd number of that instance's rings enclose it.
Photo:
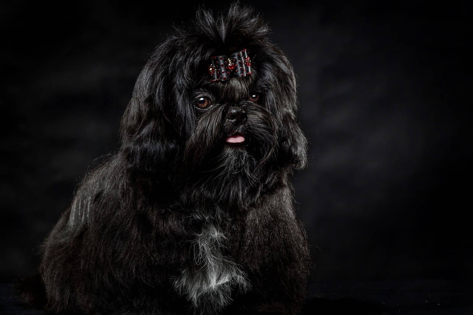
M 26 308 L 13 286 L 3 283 L 0 314 L 45 313 Z M 473 285 L 441 280 L 315 283 L 309 286 L 303 314 L 473 314 Z

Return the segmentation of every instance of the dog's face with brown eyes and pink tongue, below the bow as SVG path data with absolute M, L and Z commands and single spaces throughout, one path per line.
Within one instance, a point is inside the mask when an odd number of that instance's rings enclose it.
M 265 104 L 268 94 L 256 75 L 205 82 L 194 90 L 195 128 L 186 141 L 185 160 L 195 179 L 241 173 L 254 181 L 274 162 L 280 124 Z

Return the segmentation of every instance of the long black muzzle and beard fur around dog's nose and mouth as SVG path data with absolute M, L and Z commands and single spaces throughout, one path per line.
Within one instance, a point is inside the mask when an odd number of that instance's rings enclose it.
M 197 121 L 186 143 L 185 198 L 244 207 L 257 198 L 269 177 L 277 153 L 277 124 L 272 114 L 251 102 L 240 105 L 247 122 L 233 127 L 224 118 L 227 106 L 209 109 Z M 232 133 L 243 133 L 245 143 L 228 144 Z

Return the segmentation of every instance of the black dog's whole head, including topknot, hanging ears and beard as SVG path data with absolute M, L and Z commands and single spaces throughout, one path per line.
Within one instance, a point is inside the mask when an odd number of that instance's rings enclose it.
M 199 10 L 157 47 L 122 120 L 131 171 L 241 201 L 306 165 L 296 80 L 268 32 L 252 8 L 236 3 L 217 17 Z

